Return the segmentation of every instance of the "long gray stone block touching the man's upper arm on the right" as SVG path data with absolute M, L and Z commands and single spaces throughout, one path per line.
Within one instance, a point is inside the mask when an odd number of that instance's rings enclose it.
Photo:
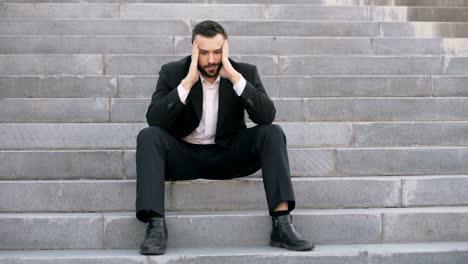
M 279 77 L 281 97 L 428 96 L 430 77 L 295 76 Z

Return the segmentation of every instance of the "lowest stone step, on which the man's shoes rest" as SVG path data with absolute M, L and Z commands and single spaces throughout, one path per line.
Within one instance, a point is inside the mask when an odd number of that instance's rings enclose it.
M 119 250 L 9 250 L 0 252 L 6 263 L 146 264 L 187 263 L 314 263 L 314 264 L 464 264 L 467 242 L 316 245 L 313 251 L 294 252 L 269 246 L 230 248 L 168 248 L 162 256 L 142 256 L 136 249 Z

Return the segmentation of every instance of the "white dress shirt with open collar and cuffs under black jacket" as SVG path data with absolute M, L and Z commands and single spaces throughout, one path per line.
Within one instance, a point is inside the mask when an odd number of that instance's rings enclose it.
M 198 127 L 190 135 L 184 137 L 183 140 L 192 144 L 215 144 L 216 124 L 218 123 L 219 81 L 221 76 L 218 75 L 213 84 L 207 82 L 201 75 L 200 79 L 203 87 L 202 117 Z M 246 83 L 244 77 L 241 77 L 234 84 L 233 88 L 238 96 L 244 91 Z M 182 84 L 177 86 L 177 91 L 180 101 L 185 104 L 190 91 L 182 87 Z

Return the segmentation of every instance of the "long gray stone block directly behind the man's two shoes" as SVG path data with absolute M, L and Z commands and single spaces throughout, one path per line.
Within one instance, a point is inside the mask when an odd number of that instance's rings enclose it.
M 378 213 L 322 213 L 295 211 L 294 225 L 300 234 L 317 244 L 369 243 L 380 239 L 381 216 Z M 106 214 L 106 248 L 135 248 L 144 237 L 144 226 L 133 213 Z M 266 211 L 226 211 L 166 214 L 168 247 L 244 247 L 266 246 L 271 217 Z M 124 228 L 126 229 L 123 232 Z M 207 231 L 209 230 L 209 231 Z M 127 237 L 127 234 L 132 234 Z

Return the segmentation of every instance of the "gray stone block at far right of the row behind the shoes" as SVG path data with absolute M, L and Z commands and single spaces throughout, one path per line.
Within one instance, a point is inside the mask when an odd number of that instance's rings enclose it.
M 394 212 L 383 216 L 383 242 L 466 241 L 468 211 L 440 208 L 412 213 Z

